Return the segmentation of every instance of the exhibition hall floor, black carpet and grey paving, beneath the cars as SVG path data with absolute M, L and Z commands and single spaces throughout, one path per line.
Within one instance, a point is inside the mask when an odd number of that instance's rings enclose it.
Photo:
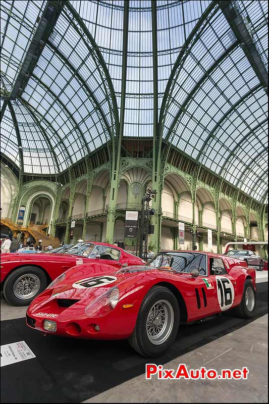
M 44 337 L 26 326 L 26 308 L 10 307 L 1 298 L 1 344 L 25 341 L 35 356 L 2 367 L 1 400 L 267 402 L 268 283 L 266 274 L 261 274 L 254 319 L 226 313 L 203 324 L 181 326 L 173 346 L 157 360 L 140 357 L 127 341 Z M 176 369 L 180 363 L 193 369 L 246 366 L 249 376 L 248 380 L 146 380 L 148 362 L 166 364 L 167 369 Z

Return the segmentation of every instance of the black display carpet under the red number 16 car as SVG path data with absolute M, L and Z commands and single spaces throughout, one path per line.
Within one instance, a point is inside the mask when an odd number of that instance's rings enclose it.
M 257 284 L 255 319 L 268 312 L 268 283 Z M 203 324 L 181 326 L 166 354 L 154 360 L 165 364 L 255 320 L 226 313 Z M 145 371 L 146 359 L 127 341 L 90 341 L 42 336 L 25 319 L 1 322 L 1 345 L 25 341 L 36 355 L 1 368 L 2 402 L 80 402 Z

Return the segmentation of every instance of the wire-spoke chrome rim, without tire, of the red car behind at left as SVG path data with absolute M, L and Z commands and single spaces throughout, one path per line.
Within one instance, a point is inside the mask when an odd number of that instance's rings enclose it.
M 20 276 L 13 286 L 13 292 L 19 299 L 30 299 L 34 297 L 40 289 L 40 280 L 34 274 Z

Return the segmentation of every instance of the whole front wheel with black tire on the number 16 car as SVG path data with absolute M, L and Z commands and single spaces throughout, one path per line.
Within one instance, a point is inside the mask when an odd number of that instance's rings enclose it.
M 179 305 L 173 292 L 163 286 L 154 286 L 142 301 L 129 338 L 130 345 L 147 358 L 164 354 L 176 339 L 179 318 Z

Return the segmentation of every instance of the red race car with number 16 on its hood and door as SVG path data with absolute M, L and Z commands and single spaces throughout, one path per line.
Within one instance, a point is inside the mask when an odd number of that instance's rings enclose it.
M 44 334 L 128 338 L 139 354 L 155 357 L 173 343 L 180 323 L 231 308 L 249 318 L 255 310 L 255 270 L 230 257 L 168 251 L 145 266 L 91 267 L 55 279 L 29 306 L 27 325 Z

